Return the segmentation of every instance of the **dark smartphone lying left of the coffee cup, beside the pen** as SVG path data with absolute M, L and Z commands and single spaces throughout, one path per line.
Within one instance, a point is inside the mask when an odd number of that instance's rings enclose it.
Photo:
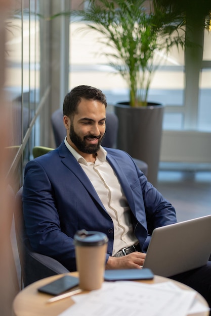
M 72 276 L 63 276 L 53 282 L 50 282 L 44 286 L 41 286 L 37 290 L 39 292 L 51 294 L 51 295 L 59 295 L 67 290 L 70 290 L 74 286 L 79 284 L 79 278 Z

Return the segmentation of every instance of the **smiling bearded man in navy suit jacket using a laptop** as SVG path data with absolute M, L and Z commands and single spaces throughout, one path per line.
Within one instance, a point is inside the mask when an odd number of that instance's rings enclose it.
M 141 269 L 152 230 L 177 222 L 174 207 L 127 153 L 100 146 L 106 107 L 101 90 L 73 88 L 63 104 L 64 142 L 25 169 L 23 208 L 31 247 L 69 271 L 76 270 L 77 230 L 108 236 L 106 269 Z M 189 284 L 189 279 L 194 277 L 184 275 L 181 281 Z M 203 292 L 200 286 L 195 289 L 207 299 L 210 290 Z

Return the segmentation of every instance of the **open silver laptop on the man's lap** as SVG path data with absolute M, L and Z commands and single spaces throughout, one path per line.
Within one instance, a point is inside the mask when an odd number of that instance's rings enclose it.
M 211 215 L 155 228 L 143 268 L 170 277 L 206 265 L 211 253 Z

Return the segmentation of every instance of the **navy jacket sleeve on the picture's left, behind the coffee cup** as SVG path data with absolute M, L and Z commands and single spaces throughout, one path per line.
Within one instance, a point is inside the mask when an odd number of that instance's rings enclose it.
M 68 270 L 75 271 L 73 238 L 61 231 L 51 182 L 36 161 L 29 162 L 25 168 L 23 215 L 32 249 L 57 259 Z

